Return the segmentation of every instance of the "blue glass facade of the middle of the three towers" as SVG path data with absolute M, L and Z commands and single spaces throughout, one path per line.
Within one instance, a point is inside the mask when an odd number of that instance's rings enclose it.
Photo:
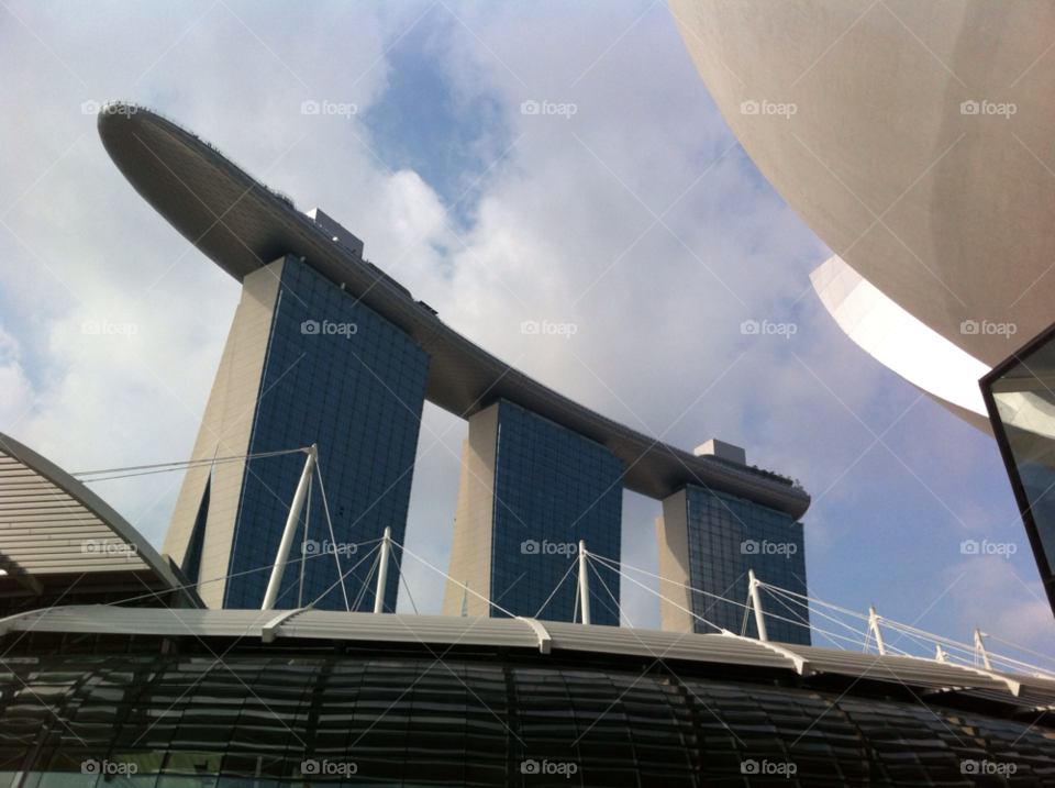
M 503 400 L 493 490 L 491 600 L 514 615 L 573 621 L 578 568 L 568 567 L 579 540 L 590 553 L 620 559 L 623 460 Z M 618 626 L 619 575 L 593 567 L 590 622 Z

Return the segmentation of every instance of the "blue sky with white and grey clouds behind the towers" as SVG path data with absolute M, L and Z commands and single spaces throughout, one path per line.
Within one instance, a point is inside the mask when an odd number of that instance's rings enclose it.
M 995 442 L 826 313 L 809 274 L 831 252 L 744 153 L 663 3 L 5 0 L 0 74 L 0 432 L 60 467 L 189 457 L 240 297 L 103 151 L 90 102 L 123 99 L 322 208 L 543 384 L 799 479 L 812 596 L 962 642 L 978 626 L 1055 647 Z M 526 320 L 576 333 L 525 335 Z M 743 334 L 746 320 L 796 331 Z M 466 434 L 426 403 L 406 545 L 440 568 Z M 180 481 L 93 489 L 160 547 Z M 626 564 L 658 570 L 659 513 L 624 493 Z M 1015 553 L 965 555 L 969 539 Z M 443 577 L 406 564 L 400 610 L 438 612 Z M 624 624 L 658 628 L 654 596 L 621 593 Z

